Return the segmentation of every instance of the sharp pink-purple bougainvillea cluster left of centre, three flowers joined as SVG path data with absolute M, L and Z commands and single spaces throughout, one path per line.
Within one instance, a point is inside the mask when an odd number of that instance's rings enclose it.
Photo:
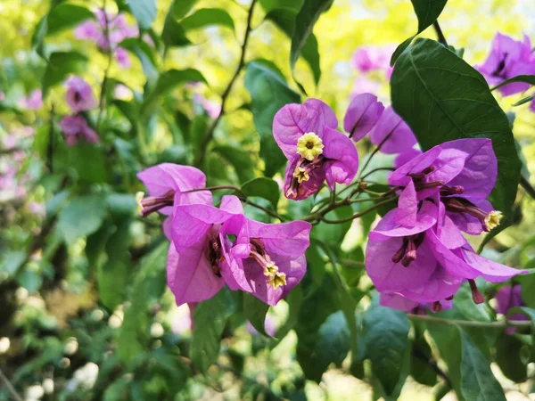
M 276 305 L 303 278 L 309 223 L 259 223 L 233 195 L 215 208 L 197 168 L 163 163 L 138 177 L 150 195 L 140 198 L 142 216 L 168 216 L 167 275 L 177 305 L 209 299 L 224 285 Z

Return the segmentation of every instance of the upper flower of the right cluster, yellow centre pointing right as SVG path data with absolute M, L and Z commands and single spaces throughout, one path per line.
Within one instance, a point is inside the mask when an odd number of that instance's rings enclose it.
M 490 139 L 459 139 L 409 160 L 391 174 L 389 183 L 403 189 L 399 197 L 405 202 L 399 204 L 403 213 L 414 216 L 417 202 L 439 194 L 447 217 L 465 233 L 475 235 L 499 224 L 501 213 L 486 200 L 497 175 Z M 416 197 L 411 193 L 414 190 Z

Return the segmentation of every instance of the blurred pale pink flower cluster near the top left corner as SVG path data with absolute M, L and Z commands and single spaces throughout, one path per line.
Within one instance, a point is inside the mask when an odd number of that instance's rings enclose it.
M 131 61 L 128 51 L 119 44 L 128 37 L 137 37 L 139 29 L 136 25 L 130 25 L 124 14 L 111 15 L 103 10 L 95 12 L 96 20 L 86 20 L 78 25 L 74 35 L 78 39 L 90 40 L 101 50 L 111 50 L 119 65 L 123 68 L 130 67 Z

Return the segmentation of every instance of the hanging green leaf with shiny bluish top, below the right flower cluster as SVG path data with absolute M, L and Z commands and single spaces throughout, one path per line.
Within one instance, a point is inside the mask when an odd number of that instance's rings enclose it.
M 380 381 L 387 397 L 394 394 L 402 377 L 404 356 L 408 347 L 407 315 L 390 307 L 372 306 L 363 322 L 366 356 L 372 363 L 374 377 Z

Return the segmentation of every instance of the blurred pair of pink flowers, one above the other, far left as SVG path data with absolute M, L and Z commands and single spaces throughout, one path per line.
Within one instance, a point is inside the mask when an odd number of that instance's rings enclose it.
M 87 123 L 85 111 L 93 110 L 97 101 L 93 89 L 82 78 L 70 77 L 65 83 L 67 92 L 65 100 L 75 114 L 63 117 L 60 122 L 65 142 L 68 146 L 74 146 L 80 140 L 86 143 L 98 143 L 99 137 L 93 128 Z

